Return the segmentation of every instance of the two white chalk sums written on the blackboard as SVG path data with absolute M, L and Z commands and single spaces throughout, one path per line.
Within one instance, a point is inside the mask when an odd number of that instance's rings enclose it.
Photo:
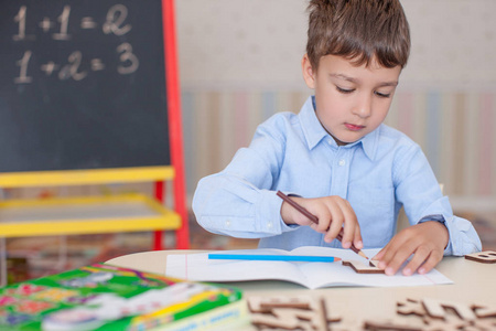
M 12 35 L 12 40 L 17 43 L 25 43 L 28 49 L 22 54 L 19 54 L 19 58 L 15 61 L 19 75 L 13 78 L 14 84 L 33 83 L 33 77 L 36 77 L 36 75 L 32 71 L 41 71 L 45 76 L 54 76 L 60 81 L 73 79 L 78 82 L 85 79 L 90 72 L 105 71 L 110 67 L 99 57 L 86 56 L 85 50 L 73 50 L 66 58 L 51 58 L 44 63 L 34 63 L 32 60 L 36 54 L 33 53 L 34 49 L 32 50 L 30 46 L 40 35 L 36 34 L 37 31 L 28 31 L 28 26 L 39 29 L 41 34 L 51 33 L 52 40 L 62 43 L 74 41 L 76 38 L 76 34 L 72 33 L 76 31 L 71 31 L 71 26 L 78 26 L 80 30 L 86 31 L 100 29 L 104 35 L 109 36 L 122 36 L 132 31 L 132 24 L 128 22 L 129 11 L 123 4 L 111 6 L 104 22 L 98 22 L 93 17 L 83 17 L 79 25 L 71 25 L 72 17 L 72 7 L 65 4 L 55 19 L 45 15 L 37 24 L 30 25 L 30 9 L 28 6 L 19 8 L 12 20 L 17 24 L 17 31 Z M 133 53 L 132 44 L 129 42 L 122 42 L 117 45 L 115 49 L 115 62 L 116 65 L 112 67 L 120 75 L 132 74 L 140 66 L 139 57 Z M 83 70 L 83 67 L 86 70 Z

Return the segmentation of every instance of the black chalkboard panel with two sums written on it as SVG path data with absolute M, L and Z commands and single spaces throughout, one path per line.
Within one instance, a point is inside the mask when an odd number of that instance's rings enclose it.
M 0 172 L 170 164 L 161 7 L 2 1 Z

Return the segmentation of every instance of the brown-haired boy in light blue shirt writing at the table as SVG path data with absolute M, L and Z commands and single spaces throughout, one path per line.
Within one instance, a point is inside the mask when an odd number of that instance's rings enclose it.
M 399 0 L 311 0 L 309 12 L 302 70 L 315 95 L 299 115 L 269 118 L 224 171 L 200 181 L 197 222 L 213 233 L 260 238 L 259 247 L 384 247 L 374 258 L 387 275 L 410 256 L 403 275 L 425 274 L 443 255 L 481 250 L 420 147 L 382 124 L 410 51 Z M 411 226 L 395 235 L 401 205 Z

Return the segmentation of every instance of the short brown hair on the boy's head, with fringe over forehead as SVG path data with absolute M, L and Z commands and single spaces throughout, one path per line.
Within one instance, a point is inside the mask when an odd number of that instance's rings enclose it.
M 356 65 L 377 58 L 384 67 L 407 65 L 410 30 L 399 0 L 310 0 L 306 54 L 314 70 L 324 55 Z

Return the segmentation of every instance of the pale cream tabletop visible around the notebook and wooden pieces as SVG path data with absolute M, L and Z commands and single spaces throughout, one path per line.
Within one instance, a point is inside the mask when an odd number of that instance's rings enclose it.
M 202 253 L 205 250 L 154 250 L 112 258 L 107 264 L 165 275 L 166 256 L 170 254 Z M 251 296 L 320 296 L 325 298 L 332 314 L 341 316 L 343 325 L 357 328 L 363 320 L 386 320 L 398 317 L 397 302 L 412 299 L 441 299 L 444 301 L 478 303 L 496 308 L 496 264 L 482 264 L 464 257 L 445 257 L 436 269 L 452 279 L 452 285 L 420 287 L 366 288 L 331 287 L 309 290 L 285 281 L 230 282 Z M 406 317 L 411 323 L 420 322 L 417 317 Z M 247 327 L 246 330 L 255 330 Z M 354 329 L 352 329 L 354 330 Z

